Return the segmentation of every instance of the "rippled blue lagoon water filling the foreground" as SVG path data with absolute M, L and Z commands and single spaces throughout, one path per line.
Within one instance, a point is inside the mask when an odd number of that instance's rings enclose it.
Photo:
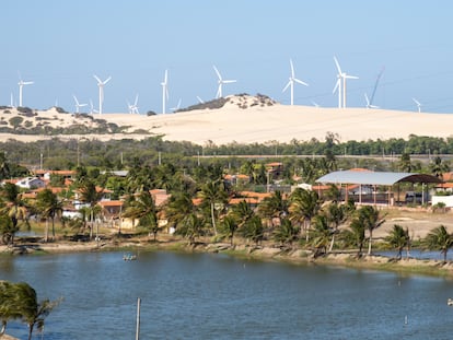
M 0 257 L 0 279 L 63 302 L 34 339 L 451 339 L 453 282 L 150 251 Z M 8 332 L 26 339 L 25 325 Z

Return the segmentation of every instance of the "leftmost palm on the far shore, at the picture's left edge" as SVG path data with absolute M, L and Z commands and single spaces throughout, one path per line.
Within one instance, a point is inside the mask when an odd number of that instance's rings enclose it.
M 8 214 L 12 222 L 12 231 L 19 231 L 19 222 L 28 225 L 27 206 L 22 199 L 22 194 L 15 184 L 5 183 L 1 189 L 1 197 L 4 204 L 0 208 L 0 214 Z M 14 234 L 11 234 L 11 244 L 14 244 Z

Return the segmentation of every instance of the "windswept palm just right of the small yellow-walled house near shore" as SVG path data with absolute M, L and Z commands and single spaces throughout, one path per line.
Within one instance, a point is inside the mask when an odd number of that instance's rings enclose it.
M 156 241 L 160 227 L 154 199 L 150 191 L 142 191 L 137 199 L 132 200 L 126 208 L 123 216 L 132 220 L 138 219 L 138 225 L 146 227 L 149 234 L 152 233 L 154 235 L 154 241 Z

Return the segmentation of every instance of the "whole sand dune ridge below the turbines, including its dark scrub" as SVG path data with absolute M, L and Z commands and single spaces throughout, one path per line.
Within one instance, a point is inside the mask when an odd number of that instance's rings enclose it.
M 326 108 L 281 105 L 270 97 L 232 95 L 200 103 L 174 114 L 69 114 L 0 107 L 0 140 L 60 138 L 143 139 L 206 143 L 266 143 L 324 140 L 335 133 L 342 142 L 408 139 L 410 134 L 448 138 L 453 115 L 374 108 Z

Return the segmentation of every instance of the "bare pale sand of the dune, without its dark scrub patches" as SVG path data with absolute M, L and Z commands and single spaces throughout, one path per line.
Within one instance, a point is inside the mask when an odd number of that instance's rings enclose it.
M 95 119 L 114 122 L 128 134 L 115 133 L 92 136 L 101 140 L 111 138 L 143 138 L 147 134 L 132 131 L 146 130 L 153 134 L 163 134 L 166 140 L 191 141 L 205 144 L 231 142 L 254 143 L 293 139 L 307 141 L 312 138 L 324 140 L 327 132 L 339 136 L 340 141 L 404 138 L 409 134 L 430 137 L 453 136 L 453 114 L 411 113 L 367 108 L 323 108 L 309 106 L 288 106 L 278 103 L 259 103 L 253 96 L 231 96 L 219 109 L 197 109 L 177 114 L 156 116 L 130 114 L 94 115 Z M 67 127 L 73 124 L 95 126 L 93 119 L 74 117 L 73 114 L 59 114 L 55 109 L 36 112 L 40 124 L 53 127 Z M 14 116 L 0 112 L 4 122 Z M 77 118 L 77 119 L 76 119 Z M 36 117 L 26 118 L 28 125 L 36 124 Z M 66 136 L 68 138 L 68 136 Z M 0 140 L 14 138 L 36 140 L 48 136 L 11 136 L 0 133 Z

